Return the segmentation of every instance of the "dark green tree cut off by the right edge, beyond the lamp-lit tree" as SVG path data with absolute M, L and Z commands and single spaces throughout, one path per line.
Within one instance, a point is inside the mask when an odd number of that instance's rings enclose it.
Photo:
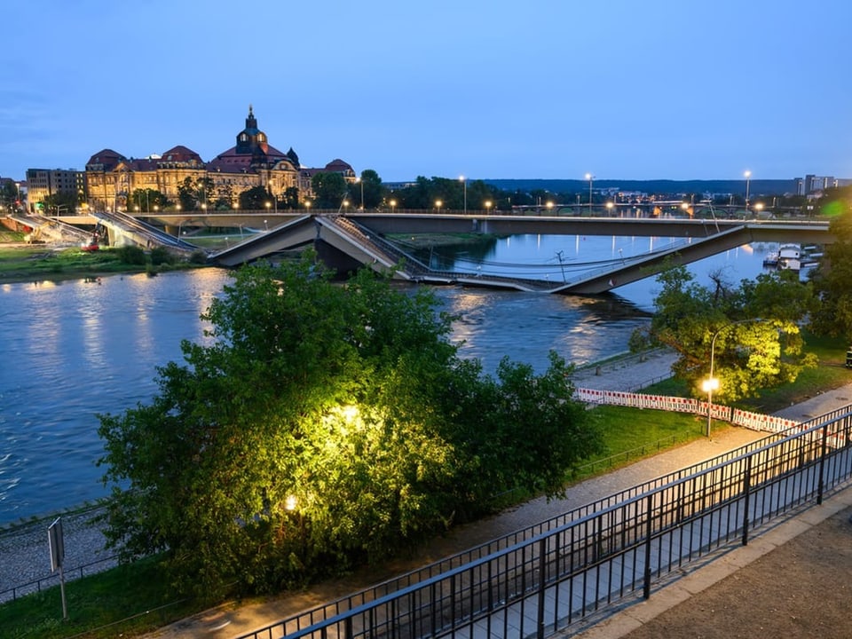
M 852 343 L 852 213 L 834 217 L 829 232 L 834 241 L 825 246 L 823 259 L 811 273 L 818 304 L 810 327 Z

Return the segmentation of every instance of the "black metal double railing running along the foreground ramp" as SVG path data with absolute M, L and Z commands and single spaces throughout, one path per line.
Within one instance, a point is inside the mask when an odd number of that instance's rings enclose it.
M 852 406 L 241 639 L 546 636 L 816 501 L 852 474 Z

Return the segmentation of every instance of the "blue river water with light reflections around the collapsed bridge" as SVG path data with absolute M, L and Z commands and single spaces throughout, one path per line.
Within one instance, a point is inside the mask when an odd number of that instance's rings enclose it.
M 656 246 L 655 246 L 656 242 Z M 526 273 L 562 280 L 665 239 L 513 236 L 487 247 L 435 248 L 442 268 Z M 698 280 L 723 269 L 753 278 L 772 247 L 743 247 L 695 264 Z M 228 280 L 203 269 L 154 278 L 114 275 L 0 286 L 0 525 L 106 495 L 97 414 L 121 413 L 156 392 L 155 368 L 181 358 L 180 342 L 203 340 L 200 319 Z M 436 288 L 461 316 L 461 354 L 493 372 L 504 355 L 547 367 L 548 351 L 584 364 L 627 351 L 648 322 L 657 285 L 635 282 L 600 297 L 548 296 L 477 288 Z

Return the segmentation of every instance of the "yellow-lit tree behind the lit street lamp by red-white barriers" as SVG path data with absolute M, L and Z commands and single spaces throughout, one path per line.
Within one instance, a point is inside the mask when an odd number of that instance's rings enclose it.
M 712 288 L 694 281 L 683 266 L 667 269 L 654 300 L 650 329 L 634 335 L 633 347 L 664 345 L 680 355 L 672 368 L 695 397 L 704 397 L 702 380 L 710 372 L 719 389 L 714 397 L 733 402 L 761 389 L 793 382 L 816 357 L 802 351 L 801 322 L 812 306 L 811 287 L 798 273 L 761 273 L 738 288 L 714 273 Z M 714 342 L 715 339 L 715 342 Z

